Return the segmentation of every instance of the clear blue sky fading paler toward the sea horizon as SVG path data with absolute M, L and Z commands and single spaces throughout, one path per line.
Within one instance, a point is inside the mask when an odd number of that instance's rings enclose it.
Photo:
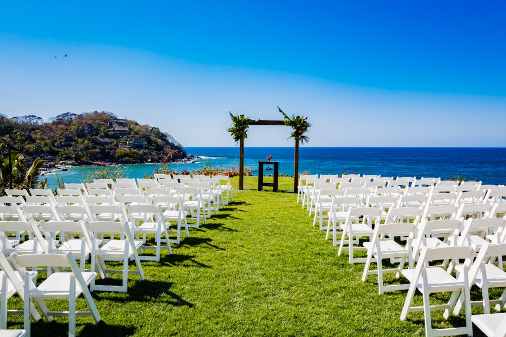
M 184 146 L 228 111 L 309 146 L 506 146 L 504 2 L 3 2 L 0 113 L 105 110 Z M 64 58 L 67 54 L 68 57 Z M 55 58 L 56 56 L 56 58 Z M 291 146 L 284 127 L 246 146 Z

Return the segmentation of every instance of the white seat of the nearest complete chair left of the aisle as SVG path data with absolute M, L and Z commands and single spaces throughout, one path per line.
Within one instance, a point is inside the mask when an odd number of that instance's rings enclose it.
M 90 285 L 92 280 L 97 276 L 94 272 L 81 272 L 82 278 L 85 279 L 85 283 Z M 56 298 L 69 296 L 70 288 L 70 276 L 72 273 L 53 273 L 44 282 L 40 283 L 33 291 L 31 296 L 33 297 L 47 297 L 54 296 Z M 75 297 L 77 298 L 82 293 L 79 283 L 76 280 L 75 285 Z

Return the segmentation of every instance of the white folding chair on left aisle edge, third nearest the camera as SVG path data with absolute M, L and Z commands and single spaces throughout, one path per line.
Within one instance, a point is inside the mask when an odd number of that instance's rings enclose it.
M 159 205 L 128 205 L 126 210 L 130 216 L 130 221 L 134 225 L 134 237 L 139 238 L 139 234 L 143 235 L 143 245 L 140 247 L 142 250 L 155 249 L 155 256 L 139 255 L 140 260 L 144 261 L 160 261 L 160 250 L 166 249 L 169 254 L 172 254 L 171 243 L 168 238 L 167 229 L 170 222 L 165 221 L 163 211 Z M 135 214 L 135 217 L 133 216 Z M 146 236 L 155 236 L 155 247 L 146 245 Z M 162 236 L 164 238 L 162 238 Z M 162 247 L 162 243 L 167 246 Z

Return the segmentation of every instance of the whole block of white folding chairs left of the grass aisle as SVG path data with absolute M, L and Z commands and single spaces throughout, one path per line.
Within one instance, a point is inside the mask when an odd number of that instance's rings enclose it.
M 171 244 L 180 244 L 181 233 L 189 236 L 189 227 L 198 227 L 213 208 L 216 212 L 218 205 L 226 204 L 217 198 L 211 204 L 213 189 L 221 191 L 221 184 L 209 189 L 206 181 L 174 183 L 173 190 L 118 187 L 107 195 L 86 194 L 95 189 L 93 185 L 58 190 L 56 196 L 50 190 L 32 189 L 30 194 L 7 190 L 10 194 L 0 197 L 0 329 L 7 327 L 7 314 L 23 314 L 25 331 L 17 332 L 29 335 L 30 317 L 35 321 L 41 318 L 36 308 L 48 321 L 68 316 L 69 335 L 75 335 L 76 315 L 91 315 L 99 322 L 90 292 L 127 292 L 129 275 L 145 279 L 141 261 L 159 261 L 162 250 L 171 254 Z M 127 188 L 130 191 L 123 190 Z M 189 223 L 191 220 L 195 223 Z M 154 246 L 147 244 L 148 235 L 154 236 Z M 154 250 L 154 254 L 146 254 L 147 250 Z M 86 269 L 86 261 L 91 262 L 90 269 Z M 112 268 L 107 261 L 120 261 L 123 266 Z M 131 261 L 134 269 L 129 268 Z M 48 277 L 37 285 L 40 271 Z M 97 276 L 107 278 L 117 273 L 122 275 L 120 285 L 95 282 Z M 15 294 L 24 302 L 23 311 L 8 310 L 8 299 Z M 75 299 L 81 294 L 89 311 L 76 311 Z M 57 299 L 68 301 L 68 311 L 48 309 L 45 301 Z

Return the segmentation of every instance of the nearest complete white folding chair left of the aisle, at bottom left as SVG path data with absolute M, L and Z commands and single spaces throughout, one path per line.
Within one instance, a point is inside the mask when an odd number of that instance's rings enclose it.
M 30 305 L 38 300 L 37 305 L 44 301 L 67 300 L 68 311 L 49 311 L 46 306 L 39 307 L 44 316 L 68 316 L 68 335 L 75 336 L 75 317 L 92 316 L 95 322 L 100 322 L 100 314 L 95 306 L 88 286 L 96 277 L 95 272 L 81 272 L 71 253 L 66 254 L 27 254 L 11 256 L 11 261 L 18 272 L 24 275 L 24 329 L 30 334 Z M 28 266 L 48 266 L 53 268 L 68 268 L 70 272 L 52 273 L 38 286 L 26 271 Z M 90 311 L 77 311 L 75 300 L 80 296 L 86 300 Z

